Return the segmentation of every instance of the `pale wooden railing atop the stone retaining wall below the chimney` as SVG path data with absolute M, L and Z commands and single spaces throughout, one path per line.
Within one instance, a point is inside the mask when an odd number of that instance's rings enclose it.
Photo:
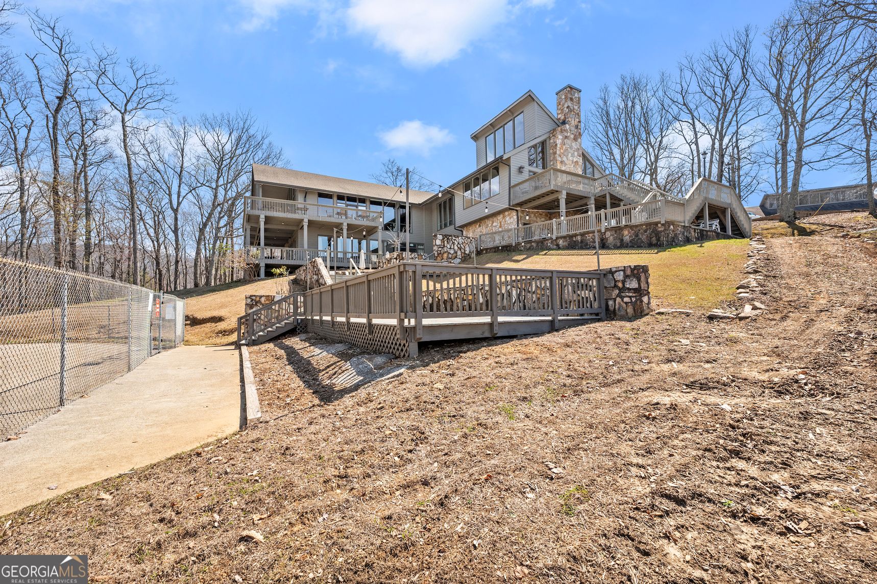
M 685 205 L 683 203 L 658 198 L 648 203 L 638 203 L 615 209 L 600 210 L 595 213 L 575 215 L 565 219 L 552 219 L 542 223 L 482 233 L 478 236 L 478 246 L 479 249 L 510 246 L 520 241 L 554 239 L 564 235 L 595 231 L 595 229 L 605 231 L 625 225 L 664 223 L 665 221 L 681 223 L 684 213 Z

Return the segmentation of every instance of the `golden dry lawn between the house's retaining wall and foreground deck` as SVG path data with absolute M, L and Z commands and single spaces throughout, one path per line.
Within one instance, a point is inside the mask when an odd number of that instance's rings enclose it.
M 708 241 L 666 249 L 610 249 L 600 253 L 602 267 L 647 264 L 655 308 L 712 309 L 734 296 L 742 279 L 747 239 Z M 479 265 L 589 270 L 597 267 L 593 250 L 488 253 Z

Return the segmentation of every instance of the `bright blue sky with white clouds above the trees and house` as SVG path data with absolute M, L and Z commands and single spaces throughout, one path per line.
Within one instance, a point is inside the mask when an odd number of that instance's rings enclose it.
M 367 180 L 393 156 L 446 184 L 474 167 L 469 134 L 532 89 L 583 103 L 630 71 L 674 68 L 785 0 L 44 0 L 83 47 L 118 47 L 176 81 L 175 109 L 252 110 L 292 167 Z M 19 27 L 13 46 L 27 47 Z M 847 179 L 828 172 L 809 186 Z

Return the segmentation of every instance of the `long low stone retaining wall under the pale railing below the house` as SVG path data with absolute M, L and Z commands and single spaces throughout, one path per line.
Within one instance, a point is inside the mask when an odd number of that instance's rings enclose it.
M 697 229 L 691 225 L 678 223 L 652 223 L 631 225 L 629 227 L 613 227 L 606 231 L 597 231 L 601 249 L 617 249 L 622 247 L 671 247 L 681 246 L 697 241 L 713 239 L 731 239 L 726 233 Z M 556 239 L 537 239 L 523 241 L 514 246 L 496 246 L 479 250 L 503 252 L 511 250 L 538 249 L 594 249 L 594 231 L 561 236 Z

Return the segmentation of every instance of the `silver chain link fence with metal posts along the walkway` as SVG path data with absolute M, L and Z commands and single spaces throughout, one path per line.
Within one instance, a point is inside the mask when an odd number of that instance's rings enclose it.
M 185 302 L 0 259 L 0 439 L 182 344 Z

